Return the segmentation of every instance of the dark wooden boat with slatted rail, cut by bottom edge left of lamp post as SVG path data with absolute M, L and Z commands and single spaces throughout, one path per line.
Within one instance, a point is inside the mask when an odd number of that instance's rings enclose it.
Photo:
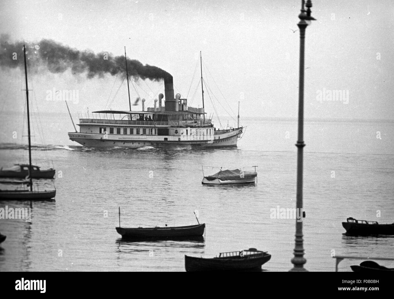
M 198 258 L 185 255 L 186 271 L 253 271 L 261 270 L 271 254 L 249 248 L 243 251 L 220 253 L 215 258 Z

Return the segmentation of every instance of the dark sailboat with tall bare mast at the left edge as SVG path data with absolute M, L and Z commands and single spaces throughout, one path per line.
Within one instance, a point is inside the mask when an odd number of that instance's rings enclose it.
M 24 69 L 26 82 L 26 107 L 27 107 L 27 123 L 28 123 L 28 140 L 29 140 L 29 165 L 28 165 L 28 180 L 29 189 L 17 190 L 0 190 L 0 200 L 48 200 L 56 196 L 56 189 L 54 190 L 33 190 L 33 165 L 32 165 L 32 145 L 30 138 L 30 111 L 29 111 L 29 89 L 27 82 L 27 65 L 26 65 L 26 46 L 23 45 L 24 54 Z

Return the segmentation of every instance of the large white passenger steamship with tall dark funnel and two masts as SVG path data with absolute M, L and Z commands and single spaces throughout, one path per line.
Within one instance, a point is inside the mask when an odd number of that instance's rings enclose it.
M 127 58 L 126 76 L 128 85 Z M 86 147 L 127 147 L 137 149 L 155 148 L 223 148 L 236 147 L 243 127 L 217 129 L 204 111 L 203 67 L 200 52 L 202 108 L 188 106 L 188 99 L 179 93 L 174 96 L 173 77 L 164 79 L 164 95 L 154 99 L 154 107 L 132 111 L 128 87 L 129 111 L 100 110 L 93 112 L 93 118 L 80 118 L 79 132 L 69 132 L 69 138 Z M 165 98 L 164 106 L 162 99 Z M 157 105 L 158 101 L 158 107 Z

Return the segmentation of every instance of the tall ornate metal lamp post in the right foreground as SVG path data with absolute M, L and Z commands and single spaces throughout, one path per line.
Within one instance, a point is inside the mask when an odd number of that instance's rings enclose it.
M 305 10 L 305 6 L 307 10 Z M 312 1 L 307 0 L 305 5 L 305 0 L 302 0 L 301 13 L 299 14 L 299 23 L 297 24 L 299 28 L 299 88 L 298 88 L 298 138 L 297 138 L 297 211 L 302 211 L 302 185 L 303 185 L 303 148 L 304 143 L 304 54 L 305 54 L 305 29 L 310 24 L 311 20 L 314 20 L 310 16 L 310 7 L 312 7 Z M 299 212 L 299 215 L 303 213 Z M 296 219 L 296 245 L 294 247 L 294 258 L 292 258 L 292 263 L 294 267 L 290 271 L 307 271 L 304 268 L 304 264 L 307 260 L 304 258 L 304 247 L 303 247 L 303 234 L 302 234 L 302 220 Z

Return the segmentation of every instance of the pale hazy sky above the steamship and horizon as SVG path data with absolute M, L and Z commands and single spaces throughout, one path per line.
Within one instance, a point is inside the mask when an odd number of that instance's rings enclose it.
M 11 41 L 53 39 L 78 50 L 107 51 L 171 73 L 175 92 L 186 97 L 199 51 L 232 110 L 242 117 L 297 117 L 299 1 L 1 1 L 0 33 Z M 394 119 L 394 2 L 312 1 L 305 53 L 305 117 Z M 34 45 L 33 43 L 31 45 Z M 1 69 L 2 110 L 22 110 L 21 70 Z M 189 93 L 197 88 L 199 66 Z M 206 82 L 230 111 L 213 79 Z M 31 75 L 41 111 L 66 111 L 45 100 L 46 91 L 75 89 L 73 113 L 102 110 L 121 79 L 86 79 L 70 72 Z M 160 84 L 140 82 L 148 93 Z M 150 89 L 149 89 L 150 88 Z M 348 103 L 318 101 L 324 91 L 343 90 Z M 141 90 L 152 106 L 152 98 Z M 162 92 L 162 91 L 161 91 Z M 321 93 L 320 93 L 321 92 Z M 244 98 L 242 99 L 242 96 Z M 131 89 L 132 99 L 136 97 Z M 216 101 L 216 100 L 215 100 Z M 225 111 L 215 102 L 219 114 Z M 208 114 L 214 112 L 205 93 Z M 202 106 L 201 87 L 191 106 Z M 127 85 L 112 109 L 128 110 Z M 135 109 L 136 106 L 134 106 Z M 140 107 L 138 106 L 138 109 Z

